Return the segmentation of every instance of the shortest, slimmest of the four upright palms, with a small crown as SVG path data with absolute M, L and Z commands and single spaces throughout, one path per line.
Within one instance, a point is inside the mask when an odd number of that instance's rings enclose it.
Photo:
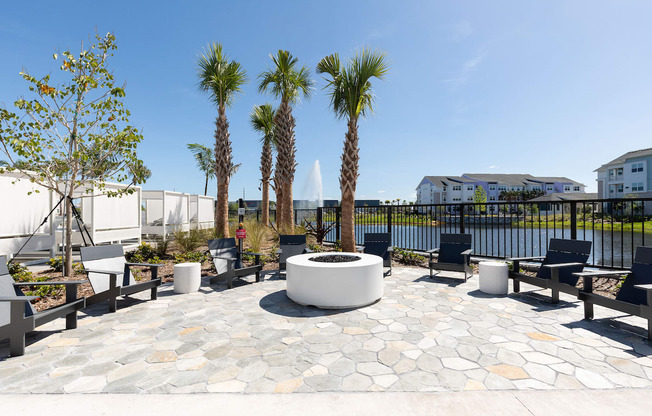
M 269 225 L 269 179 L 272 176 L 272 149 L 276 147 L 276 137 L 274 135 L 275 114 L 276 109 L 271 104 L 263 104 L 254 106 L 250 116 L 251 127 L 263 134 L 263 137 L 260 138 L 263 145 L 263 151 L 260 155 L 260 173 L 263 187 L 262 222 L 265 225 Z

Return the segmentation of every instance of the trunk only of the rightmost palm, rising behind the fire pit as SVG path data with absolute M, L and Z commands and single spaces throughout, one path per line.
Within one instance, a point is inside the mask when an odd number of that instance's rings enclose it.
M 358 181 L 358 119 L 351 118 L 344 140 L 340 189 L 342 190 L 342 251 L 355 252 L 355 188 Z

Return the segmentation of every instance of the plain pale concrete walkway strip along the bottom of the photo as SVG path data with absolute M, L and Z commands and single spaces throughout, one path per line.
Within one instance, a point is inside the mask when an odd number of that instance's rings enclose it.
M 649 390 L 462 393 L 2 395 L 5 414 L 93 415 L 650 415 Z

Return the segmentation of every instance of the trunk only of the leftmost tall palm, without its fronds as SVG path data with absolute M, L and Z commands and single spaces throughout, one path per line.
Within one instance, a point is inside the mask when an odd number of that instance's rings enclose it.
M 229 180 L 233 161 L 231 159 L 231 141 L 229 140 L 229 122 L 226 120 L 224 106 L 218 108 L 215 121 L 215 176 L 217 179 L 217 209 L 215 210 L 215 228 L 218 235 L 229 237 Z

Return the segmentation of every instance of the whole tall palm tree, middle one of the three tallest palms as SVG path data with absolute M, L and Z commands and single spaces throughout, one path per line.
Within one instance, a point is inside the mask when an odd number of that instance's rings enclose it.
M 270 55 L 274 65 L 260 74 L 258 91 L 271 92 L 281 99 L 281 104 L 274 116 L 276 126 L 276 168 L 274 185 L 276 191 L 277 223 L 280 228 L 294 232 L 294 209 L 292 207 L 292 183 L 296 169 L 296 145 L 294 138 L 294 117 L 292 105 L 299 102 L 299 95 L 310 96 L 313 81 L 310 71 L 303 66 L 297 68 L 298 58 L 288 51 L 279 50 Z M 280 229 L 279 228 L 279 229 Z

